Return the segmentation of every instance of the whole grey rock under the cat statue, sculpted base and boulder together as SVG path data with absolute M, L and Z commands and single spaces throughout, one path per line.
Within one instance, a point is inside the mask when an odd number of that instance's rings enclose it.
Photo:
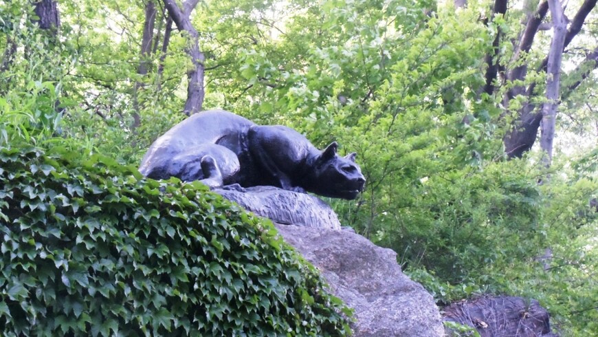
M 274 221 L 285 241 L 322 272 L 331 292 L 355 309 L 354 336 L 443 336 L 434 299 L 401 272 L 397 254 L 341 230 L 322 200 L 268 186 L 214 191 Z

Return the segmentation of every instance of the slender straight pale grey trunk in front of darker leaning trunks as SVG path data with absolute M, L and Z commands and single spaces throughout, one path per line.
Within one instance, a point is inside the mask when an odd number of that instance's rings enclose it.
M 550 166 L 553 157 L 553 140 L 555 137 L 555 120 L 560 93 L 561 60 L 567 32 L 567 23 L 559 0 L 549 0 L 553 19 L 553 40 L 546 67 L 546 102 L 542 105 L 542 133 L 540 147 L 544 151 L 544 164 Z

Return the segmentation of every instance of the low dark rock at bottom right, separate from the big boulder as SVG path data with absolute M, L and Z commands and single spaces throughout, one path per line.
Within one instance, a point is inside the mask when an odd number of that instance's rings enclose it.
M 484 296 L 445 307 L 444 320 L 476 328 L 481 337 L 557 337 L 549 313 L 535 300 Z

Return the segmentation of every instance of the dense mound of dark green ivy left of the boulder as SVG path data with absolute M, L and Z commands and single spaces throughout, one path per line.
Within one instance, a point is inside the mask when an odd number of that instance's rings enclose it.
M 197 182 L 77 157 L 0 148 L 1 335 L 350 333 L 268 221 Z

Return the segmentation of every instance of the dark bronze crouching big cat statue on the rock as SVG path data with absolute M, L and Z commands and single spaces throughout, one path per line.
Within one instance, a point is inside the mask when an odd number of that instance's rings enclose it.
M 211 188 L 265 185 L 355 199 L 366 180 L 355 153 L 340 157 L 336 150 L 336 142 L 324 151 L 315 149 L 288 127 L 256 125 L 228 111 L 204 111 L 158 138 L 140 171 L 154 179 L 200 180 Z

